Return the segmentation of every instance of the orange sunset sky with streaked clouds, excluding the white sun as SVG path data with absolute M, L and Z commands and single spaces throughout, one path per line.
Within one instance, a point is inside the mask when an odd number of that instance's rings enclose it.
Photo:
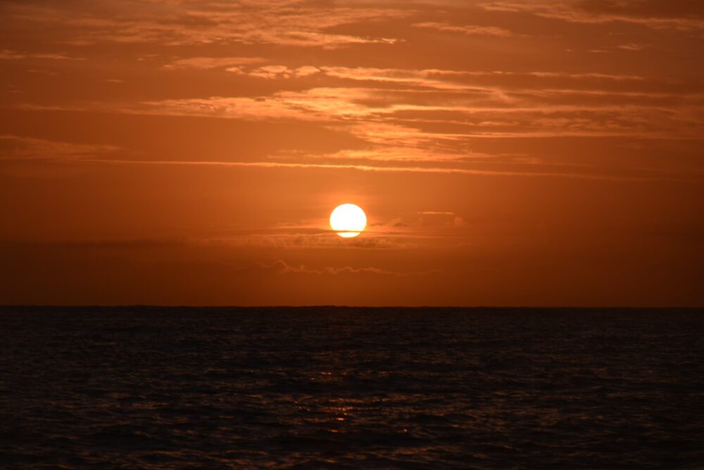
M 704 305 L 699 0 L 0 23 L 0 304 Z

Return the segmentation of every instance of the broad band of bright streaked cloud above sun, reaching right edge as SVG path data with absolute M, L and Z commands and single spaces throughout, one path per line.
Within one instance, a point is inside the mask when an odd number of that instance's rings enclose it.
M 243 66 L 244 67 L 244 66 Z M 318 122 L 372 146 L 386 159 L 467 155 L 472 139 L 629 136 L 697 139 L 704 127 L 698 84 L 639 75 L 464 72 L 320 67 L 358 87 L 282 89 L 261 96 L 210 96 L 132 104 L 43 107 L 142 115 Z M 313 68 L 265 65 L 239 73 L 293 77 Z M 366 85 L 366 86 L 361 86 Z M 410 150 L 399 152 L 398 149 Z M 418 150 L 420 149 L 420 150 Z M 378 150 L 375 149 L 375 150 Z M 384 157 L 381 151 L 376 152 Z

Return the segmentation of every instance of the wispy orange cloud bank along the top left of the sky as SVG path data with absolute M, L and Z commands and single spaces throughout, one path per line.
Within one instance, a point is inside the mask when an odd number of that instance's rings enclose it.
M 8 8 L 9 18 L 27 23 L 57 23 L 75 45 L 122 44 L 278 44 L 337 49 L 353 44 L 394 44 L 395 38 L 330 32 L 358 22 L 401 18 L 394 8 L 346 8 L 306 2 L 245 1 L 142 2 L 130 8 L 120 2 L 22 5 Z

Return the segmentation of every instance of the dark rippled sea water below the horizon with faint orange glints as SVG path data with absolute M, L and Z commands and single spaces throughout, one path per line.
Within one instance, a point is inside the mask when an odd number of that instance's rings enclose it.
M 701 310 L 0 307 L 0 468 L 704 468 Z

